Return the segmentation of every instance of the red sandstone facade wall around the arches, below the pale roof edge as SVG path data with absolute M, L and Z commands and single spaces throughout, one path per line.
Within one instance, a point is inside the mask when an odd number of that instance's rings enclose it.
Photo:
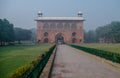
M 64 42 L 72 43 L 72 38 L 76 38 L 76 43 L 84 42 L 84 31 L 83 31 L 83 21 L 67 21 L 69 24 L 75 23 L 77 25 L 77 29 L 55 29 L 55 30 L 45 30 L 43 29 L 44 23 L 47 22 L 51 24 L 54 22 L 56 25 L 61 21 L 37 21 L 37 41 L 40 40 L 41 43 L 44 42 L 44 32 L 48 32 L 49 43 L 55 43 L 55 36 L 58 33 L 62 33 L 64 37 Z M 66 21 L 62 21 L 62 24 L 65 24 Z M 72 37 L 72 33 L 76 32 L 76 36 Z M 81 40 L 81 42 L 80 42 Z

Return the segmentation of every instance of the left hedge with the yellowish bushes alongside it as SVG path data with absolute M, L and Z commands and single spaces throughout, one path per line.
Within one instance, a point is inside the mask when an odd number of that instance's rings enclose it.
M 18 68 L 14 73 L 11 73 L 10 78 L 39 78 L 54 48 L 55 45 L 33 60 L 30 65 Z

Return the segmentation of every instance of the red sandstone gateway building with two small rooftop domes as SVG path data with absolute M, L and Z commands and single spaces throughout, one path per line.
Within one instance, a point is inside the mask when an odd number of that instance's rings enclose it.
M 82 13 L 77 17 L 43 17 L 38 12 L 37 42 L 38 43 L 83 43 L 84 31 Z

